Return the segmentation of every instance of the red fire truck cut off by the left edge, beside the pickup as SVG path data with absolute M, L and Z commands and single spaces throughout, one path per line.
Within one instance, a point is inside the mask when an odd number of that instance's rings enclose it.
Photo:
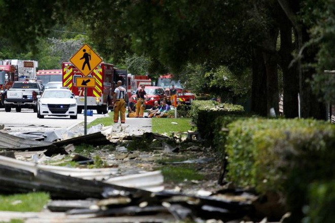
M 4 106 L 6 91 L 18 80 L 18 73 L 15 65 L 0 65 L 0 100 Z

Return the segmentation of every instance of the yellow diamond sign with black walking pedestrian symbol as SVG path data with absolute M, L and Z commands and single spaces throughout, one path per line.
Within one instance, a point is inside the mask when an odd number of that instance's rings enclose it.
M 75 53 L 71 59 L 71 63 L 84 75 L 89 75 L 92 70 L 103 61 L 87 44 L 84 44 Z

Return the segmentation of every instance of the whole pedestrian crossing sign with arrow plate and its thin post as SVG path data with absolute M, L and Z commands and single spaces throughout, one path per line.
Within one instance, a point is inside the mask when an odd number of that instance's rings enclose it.
M 103 61 L 90 46 L 84 44 L 70 59 L 71 63 L 83 74 L 88 76 L 99 63 Z M 95 87 L 95 78 L 77 78 L 77 87 L 85 88 L 85 105 L 84 105 L 84 134 L 87 134 L 87 88 Z

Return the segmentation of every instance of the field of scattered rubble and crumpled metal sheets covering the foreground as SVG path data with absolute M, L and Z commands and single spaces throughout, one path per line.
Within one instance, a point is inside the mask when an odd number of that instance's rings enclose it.
M 129 134 L 117 125 L 98 126 L 87 135 L 50 134 L 53 142 L 46 146 L 24 144 L 25 152 L 16 150 L 18 145 L 6 149 L 15 151 L 9 157 L 0 156 L 1 193 L 48 192 L 52 200 L 47 212 L 0 211 L 1 220 L 25 219 L 26 222 L 251 222 L 255 212 L 253 203 L 258 196 L 253 192 L 223 189 L 217 178 L 220 163 L 216 163 L 211 150 L 191 143 L 186 149 L 169 143 L 168 136 L 144 132 Z M 0 131 L 1 132 L 1 131 Z M 0 135 L 6 139 L 8 134 Z M 35 134 L 37 135 L 37 134 Z M 57 135 L 51 137 L 51 135 Z M 71 135 L 71 138 L 69 137 Z M 196 135 L 196 134 L 195 134 Z M 190 140 L 196 139 L 191 134 Z M 15 137 L 14 141 L 19 142 Z M 29 138 L 31 137 L 31 138 Z M 150 150 L 132 151 L 127 142 L 150 142 Z M 159 143 L 157 143 L 159 142 Z M 75 145 L 89 144 L 97 150 L 89 156 L 74 153 Z M 112 146 L 113 152 L 109 148 Z M 40 151 L 34 151 L 35 148 Z M 43 149 L 43 150 L 41 150 Z M 159 165 L 194 164 L 202 170 L 206 181 L 191 180 L 175 185 L 163 182 L 160 171 L 154 171 L 154 161 L 164 156 L 178 157 L 181 153 L 193 153 L 197 159 L 162 162 Z M 71 155 L 70 161 L 93 164 L 98 156 L 108 165 L 106 168 L 72 168 L 45 165 L 59 162 Z M 69 157 L 69 156 L 68 156 Z M 16 159 L 14 159 L 16 158 Z M 156 164 L 157 165 L 157 164 Z M 187 186 L 186 186 L 187 185 Z M 244 221 L 245 220 L 245 221 Z M 249 221 L 248 221 L 249 220 Z M 258 221 L 268 222 L 266 218 Z

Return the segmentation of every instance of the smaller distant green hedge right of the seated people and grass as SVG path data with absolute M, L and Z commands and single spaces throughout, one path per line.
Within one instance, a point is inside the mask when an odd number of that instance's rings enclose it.
M 218 117 L 241 114 L 244 114 L 243 106 L 213 100 L 193 100 L 190 110 L 192 122 L 196 125 L 200 136 L 206 140 L 213 139 L 213 130 L 218 123 L 216 121 Z

